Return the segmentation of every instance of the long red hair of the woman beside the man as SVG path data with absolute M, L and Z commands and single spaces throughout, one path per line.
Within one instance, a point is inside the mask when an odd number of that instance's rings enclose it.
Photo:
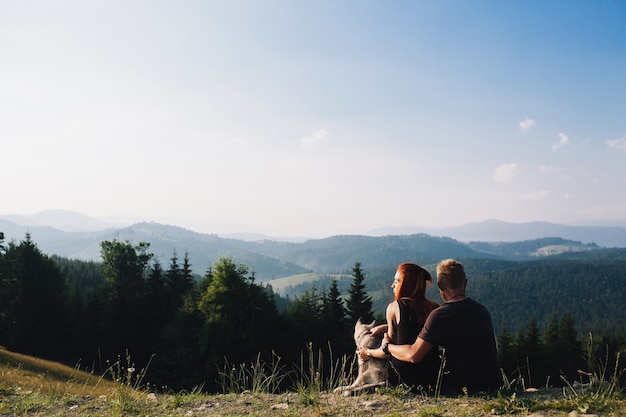
M 421 266 L 405 262 L 398 266 L 398 290 L 395 300 L 408 298 L 417 315 L 417 322 L 423 326 L 431 311 L 439 304 L 426 298 L 426 286 L 433 285 L 430 273 Z

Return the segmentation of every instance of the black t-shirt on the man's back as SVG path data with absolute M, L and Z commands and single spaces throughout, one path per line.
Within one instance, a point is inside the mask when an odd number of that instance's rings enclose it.
M 430 313 L 419 337 L 445 349 L 447 390 L 476 393 L 501 386 L 491 315 L 482 304 L 470 298 L 443 304 Z

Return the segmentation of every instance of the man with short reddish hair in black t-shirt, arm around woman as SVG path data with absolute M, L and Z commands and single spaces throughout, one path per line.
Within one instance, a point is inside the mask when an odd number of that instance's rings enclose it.
M 463 265 L 454 259 L 441 261 L 437 265 L 437 285 L 444 304 L 430 313 L 415 342 L 393 345 L 385 333 L 380 350 L 402 361 L 419 362 L 431 349 L 442 346 L 443 394 L 498 389 L 502 375 L 491 315 L 482 304 L 465 295 Z M 359 349 L 358 353 L 361 360 L 372 354 L 367 349 Z

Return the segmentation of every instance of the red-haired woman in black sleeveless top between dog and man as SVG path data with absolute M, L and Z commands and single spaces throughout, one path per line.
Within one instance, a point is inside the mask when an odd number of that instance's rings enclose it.
M 391 288 L 394 301 L 387 306 L 387 324 L 372 329 L 372 333 L 387 331 L 394 344 L 412 344 L 424 326 L 426 318 L 439 304 L 426 298 L 426 286 L 432 285 L 432 277 L 421 266 L 405 262 L 398 266 Z M 380 349 L 363 349 L 360 354 L 384 357 Z M 432 349 L 429 355 L 419 363 L 409 363 L 391 357 L 393 369 L 398 374 L 399 382 L 417 390 L 434 389 L 439 371 L 439 355 Z M 395 381 L 391 381 L 395 382 Z

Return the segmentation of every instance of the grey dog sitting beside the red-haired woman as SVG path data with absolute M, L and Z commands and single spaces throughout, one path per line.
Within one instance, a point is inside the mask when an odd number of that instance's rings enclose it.
M 363 324 L 359 319 L 354 325 L 354 343 L 357 348 L 367 347 L 370 349 L 379 348 L 382 344 L 382 336 L 373 336 L 371 329 L 376 325 L 376 321 L 370 324 Z M 387 384 L 389 377 L 388 359 L 370 358 L 363 362 L 359 359 L 359 373 L 350 385 L 337 387 L 333 392 L 342 392 L 345 396 L 358 394 L 361 391 L 380 387 Z

